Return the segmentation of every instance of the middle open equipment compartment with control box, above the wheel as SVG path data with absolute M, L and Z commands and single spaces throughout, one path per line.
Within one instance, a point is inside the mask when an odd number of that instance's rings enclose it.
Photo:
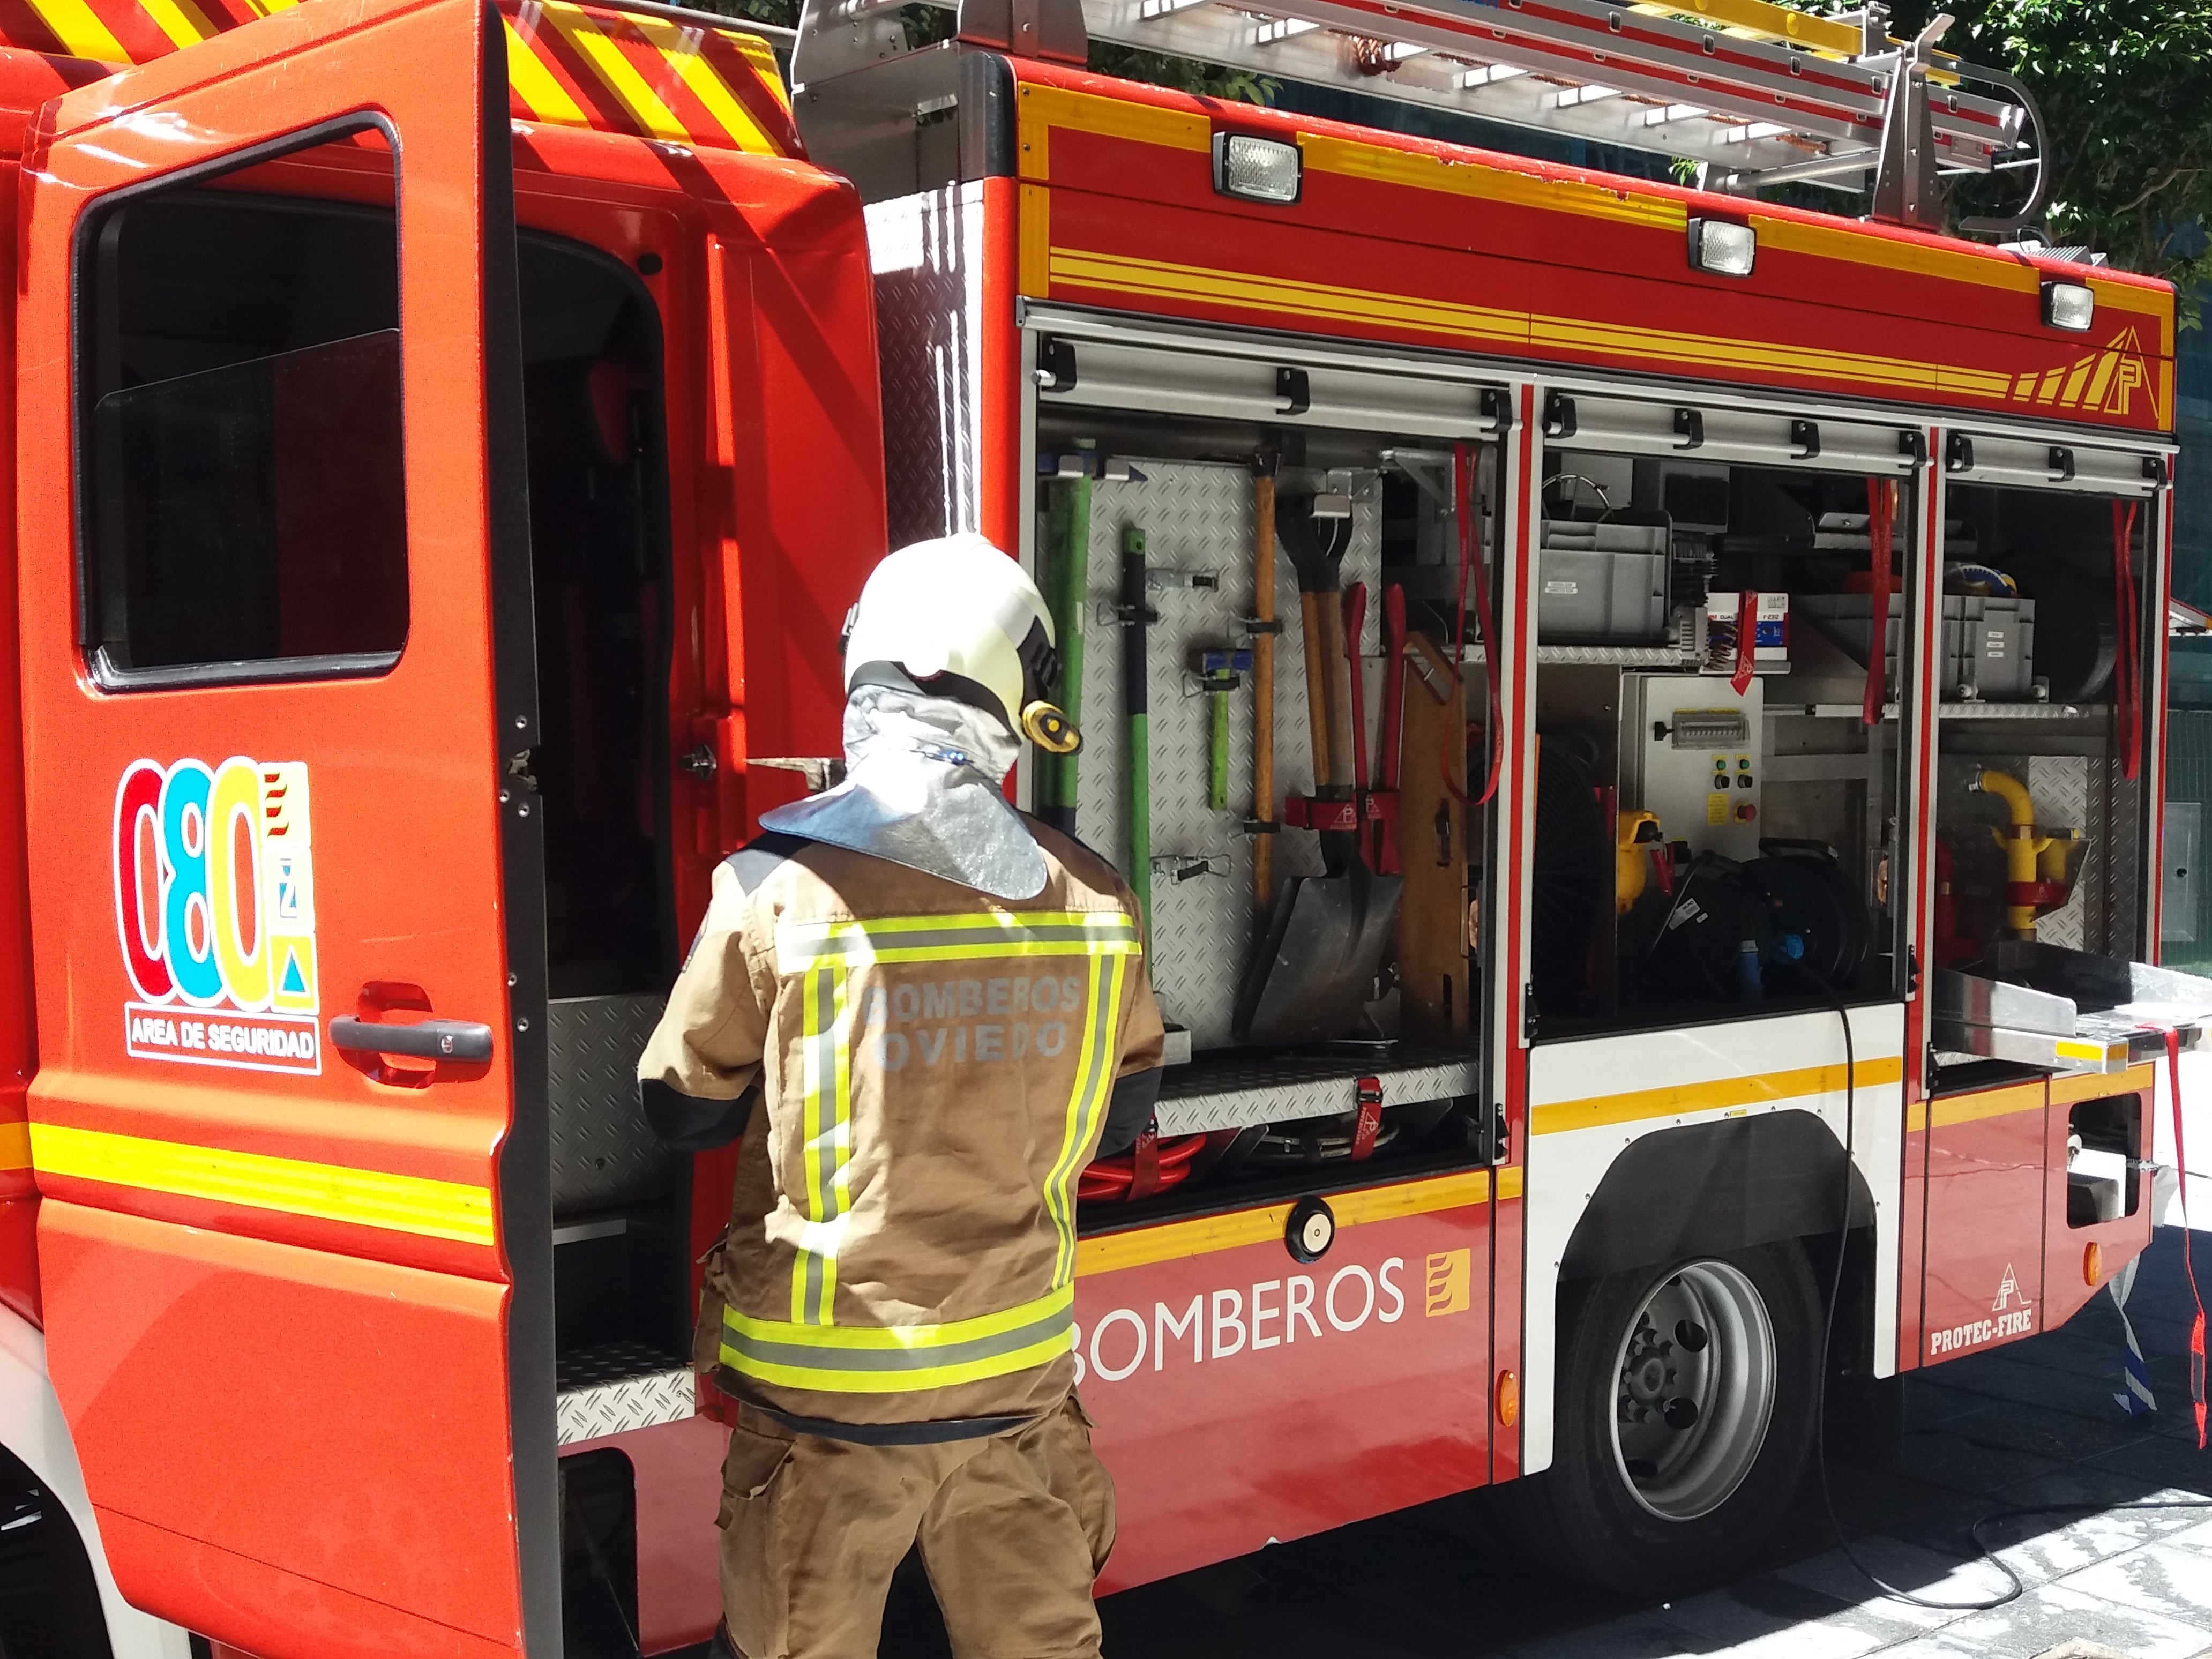
M 1900 998 L 1924 436 L 1553 392 L 1544 442 L 1537 1033 Z

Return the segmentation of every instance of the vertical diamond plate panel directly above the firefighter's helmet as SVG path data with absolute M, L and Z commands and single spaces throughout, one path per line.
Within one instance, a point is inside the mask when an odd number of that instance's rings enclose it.
M 867 208 L 891 546 L 978 524 L 982 186 Z

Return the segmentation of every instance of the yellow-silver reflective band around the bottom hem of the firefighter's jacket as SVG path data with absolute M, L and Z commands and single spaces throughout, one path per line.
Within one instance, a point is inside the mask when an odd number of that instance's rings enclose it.
M 823 1394 L 916 1394 L 1026 1371 L 1068 1352 L 1075 1287 L 947 1325 L 803 1325 L 721 1312 L 721 1363 Z

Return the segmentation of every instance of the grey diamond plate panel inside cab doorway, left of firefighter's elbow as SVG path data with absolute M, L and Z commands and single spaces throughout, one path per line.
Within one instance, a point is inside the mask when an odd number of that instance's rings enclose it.
M 675 1155 L 637 1110 L 637 1055 L 661 998 L 557 998 L 546 1004 L 553 1214 L 613 1210 L 661 1192 Z

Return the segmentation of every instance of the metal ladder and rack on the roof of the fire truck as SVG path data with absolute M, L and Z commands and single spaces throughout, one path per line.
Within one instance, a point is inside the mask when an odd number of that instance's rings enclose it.
M 880 124 L 956 88 L 909 51 L 902 0 L 805 0 L 792 80 Z M 1958 228 L 2006 234 L 2044 192 L 2042 117 L 1997 69 L 1889 35 L 1889 9 L 1816 15 L 1772 0 L 929 0 L 958 46 L 1082 64 L 1091 40 L 1429 104 L 1699 164 L 1710 190 L 1803 179 L 1869 192 L 1869 215 L 1944 228 L 1944 179 L 2031 168 L 2026 204 Z M 865 75 L 860 84 L 843 82 Z M 1986 91 L 1966 91 L 1980 86 Z M 2002 93 L 2002 95 L 1991 95 Z M 858 97 L 856 97 L 858 95 Z M 927 106 L 927 108 L 925 108 Z M 834 142 L 821 148 L 838 148 Z

